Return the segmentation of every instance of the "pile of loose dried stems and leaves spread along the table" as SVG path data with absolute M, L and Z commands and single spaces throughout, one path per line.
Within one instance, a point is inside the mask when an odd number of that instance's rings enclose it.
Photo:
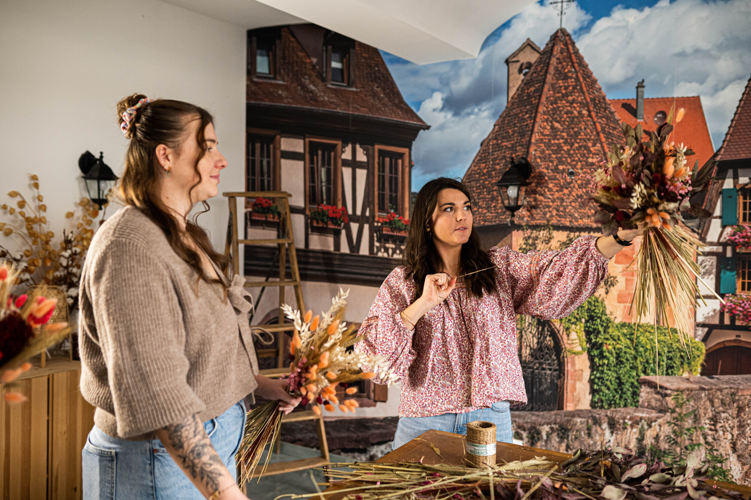
M 423 463 L 332 463 L 330 481 L 342 500 L 719 500 L 740 493 L 707 483 L 701 451 L 685 466 L 648 463 L 627 448 L 585 452 L 557 466 L 544 457 L 476 469 Z M 551 467 L 552 466 L 552 467 Z M 305 499 L 318 493 L 282 495 Z

